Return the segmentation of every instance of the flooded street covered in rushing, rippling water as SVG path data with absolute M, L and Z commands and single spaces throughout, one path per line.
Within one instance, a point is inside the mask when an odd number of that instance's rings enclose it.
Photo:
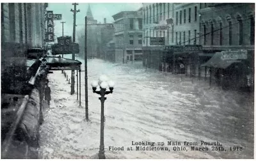
M 84 70 L 84 60 L 78 60 Z M 88 59 L 89 122 L 84 121 L 84 72 L 81 107 L 63 73 L 49 73 L 52 100 L 43 111 L 39 158 L 92 158 L 99 152 L 100 100 L 90 83 L 102 74 L 115 82 L 105 102 L 106 158 L 253 158 L 252 93 L 223 91 L 210 88 L 204 79 L 145 70 L 141 61 L 120 65 L 100 59 Z M 168 141 L 181 142 L 182 147 L 184 142 L 220 142 L 227 151 L 191 151 L 189 144 L 184 146 L 188 151 L 175 151 Z M 128 151 L 136 142 L 164 142 L 171 151 Z M 230 151 L 233 146 L 243 150 Z

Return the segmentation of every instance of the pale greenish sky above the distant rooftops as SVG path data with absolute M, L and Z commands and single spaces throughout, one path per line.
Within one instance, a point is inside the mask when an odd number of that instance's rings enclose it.
M 77 5 L 77 10 L 80 11 L 76 17 L 76 32 L 84 31 L 84 17 L 88 9 L 88 4 L 79 3 Z M 134 11 L 140 7 L 142 7 L 142 3 L 90 3 L 93 18 L 101 23 L 104 22 L 104 18 L 107 19 L 108 23 L 113 22 L 112 15 L 120 11 Z M 71 8 L 74 10 L 72 3 L 49 3 L 47 10 L 52 10 L 54 14 L 62 14 L 62 20 L 54 20 L 54 34 L 56 36 L 62 36 L 62 21 L 66 22 L 64 24 L 64 36 L 72 36 L 73 13 L 70 11 Z

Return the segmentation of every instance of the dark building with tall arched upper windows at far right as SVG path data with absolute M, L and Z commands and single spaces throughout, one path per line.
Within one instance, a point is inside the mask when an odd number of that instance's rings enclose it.
M 233 56 L 229 58 L 231 61 L 237 61 L 225 68 L 219 65 L 212 68 L 214 79 L 223 79 L 223 75 L 226 75 L 225 82 L 219 82 L 232 88 L 253 84 L 255 4 L 201 3 L 200 34 L 205 53 L 227 52 Z M 241 53 L 245 54 L 244 57 L 240 57 Z M 223 59 L 218 61 L 222 62 Z

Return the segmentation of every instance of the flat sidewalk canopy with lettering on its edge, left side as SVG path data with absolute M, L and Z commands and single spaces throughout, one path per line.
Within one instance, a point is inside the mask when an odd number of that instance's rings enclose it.
M 62 58 L 62 57 L 45 57 L 47 63 L 50 66 L 50 70 L 80 70 L 81 61 Z

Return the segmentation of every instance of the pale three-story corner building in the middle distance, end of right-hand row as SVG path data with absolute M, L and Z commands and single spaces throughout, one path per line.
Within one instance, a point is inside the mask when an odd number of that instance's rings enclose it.
M 142 10 L 121 11 L 115 20 L 115 61 L 127 63 L 142 57 Z

